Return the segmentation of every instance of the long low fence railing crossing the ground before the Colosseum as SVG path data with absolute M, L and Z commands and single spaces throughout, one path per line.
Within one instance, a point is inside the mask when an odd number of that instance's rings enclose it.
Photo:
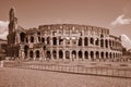
M 59 65 L 59 64 L 17 63 L 17 62 L 4 62 L 3 66 L 83 74 L 83 75 L 85 74 L 85 75 L 100 75 L 100 76 L 110 76 L 110 77 L 131 78 L 130 69 L 114 69 L 114 67 L 104 67 L 104 66 L 86 67 L 84 65 Z

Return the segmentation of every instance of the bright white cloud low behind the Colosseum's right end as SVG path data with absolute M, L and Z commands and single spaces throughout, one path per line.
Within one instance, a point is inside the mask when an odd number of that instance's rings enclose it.
M 126 47 L 127 49 L 131 49 L 131 39 L 127 35 L 122 34 L 121 40 L 123 47 Z

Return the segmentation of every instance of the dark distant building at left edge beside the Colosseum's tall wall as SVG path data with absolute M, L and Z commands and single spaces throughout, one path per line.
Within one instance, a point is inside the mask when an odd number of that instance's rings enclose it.
M 0 39 L 0 60 L 3 60 L 7 55 L 7 40 Z

